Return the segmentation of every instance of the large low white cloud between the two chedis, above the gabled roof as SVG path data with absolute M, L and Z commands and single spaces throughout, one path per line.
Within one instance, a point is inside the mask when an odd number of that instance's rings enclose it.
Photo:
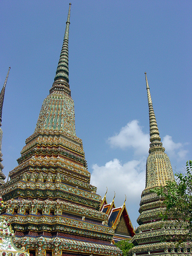
M 139 202 L 145 188 L 146 158 L 132 160 L 123 165 L 118 159 L 104 166 L 93 165 L 91 184 L 97 187 L 97 193 L 103 197 L 108 187 L 107 201 L 110 203 L 116 192 L 115 205 L 121 206 L 127 196 L 126 206 L 133 225 L 139 216 Z

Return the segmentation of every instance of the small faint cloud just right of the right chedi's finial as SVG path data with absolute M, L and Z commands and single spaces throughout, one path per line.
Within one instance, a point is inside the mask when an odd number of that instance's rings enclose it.
M 170 157 L 178 158 L 179 160 L 186 159 L 188 150 L 184 149 L 186 144 L 180 142 L 175 143 L 172 140 L 172 136 L 166 135 L 163 140 L 163 147 L 166 149 L 166 153 Z

